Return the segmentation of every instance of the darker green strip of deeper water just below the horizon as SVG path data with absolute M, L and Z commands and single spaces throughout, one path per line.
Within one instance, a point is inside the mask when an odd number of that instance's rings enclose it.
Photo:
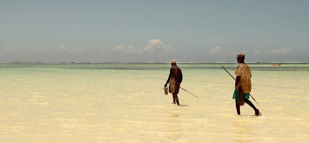
M 309 63 L 248 63 L 251 70 L 263 71 L 309 71 Z M 237 63 L 178 63 L 182 69 L 234 70 Z M 110 69 L 110 70 L 165 70 L 169 63 L 0 63 L 0 68 L 54 68 L 54 69 Z

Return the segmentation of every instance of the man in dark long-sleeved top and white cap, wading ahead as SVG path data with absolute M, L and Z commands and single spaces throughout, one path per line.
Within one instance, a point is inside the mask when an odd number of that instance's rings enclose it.
M 170 74 L 168 76 L 168 79 L 164 85 L 164 87 L 167 86 L 167 83 L 170 82 L 171 76 L 174 75 L 175 78 L 175 92 L 173 93 L 173 103 L 179 105 L 179 100 L 178 100 L 178 92 L 180 89 L 180 83 L 182 82 L 182 73 L 181 69 L 176 65 L 176 60 L 171 61 L 171 69 L 170 69 Z

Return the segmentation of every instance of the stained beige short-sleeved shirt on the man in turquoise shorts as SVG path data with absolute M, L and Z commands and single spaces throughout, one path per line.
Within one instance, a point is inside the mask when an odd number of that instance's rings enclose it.
M 247 64 L 239 64 L 235 71 L 236 76 L 241 76 L 240 82 L 236 86 L 239 89 L 239 86 L 243 89 L 243 93 L 251 92 L 251 70 Z

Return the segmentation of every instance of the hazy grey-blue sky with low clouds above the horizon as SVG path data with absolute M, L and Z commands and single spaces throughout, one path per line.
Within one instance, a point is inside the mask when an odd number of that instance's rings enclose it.
M 0 62 L 309 62 L 307 0 L 2 0 Z

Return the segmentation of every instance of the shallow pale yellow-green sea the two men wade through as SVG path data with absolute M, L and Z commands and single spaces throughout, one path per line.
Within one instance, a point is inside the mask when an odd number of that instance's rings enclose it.
M 169 63 L 0 63 L 2 142 L 308 142 L 309 63 L 248 63 L 249 100 L 232 99 L 237 63 L 177 63 L 180 105 L 160 91 Z

